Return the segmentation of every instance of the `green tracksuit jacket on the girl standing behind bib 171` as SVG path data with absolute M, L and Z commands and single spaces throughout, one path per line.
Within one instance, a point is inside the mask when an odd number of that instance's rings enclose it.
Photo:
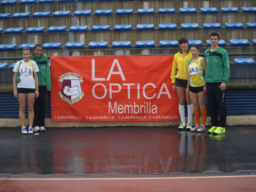
M 51 77 L 50 77 L 50 68 L 49 68 L 49 61 L 46 55 L 42 54 L 38 59 L 35 55 L 31 55 L 30 59 L 37 63 L 39 68 L 38 75 L 38 85 L 39 86 L 46 86 L 46 90 L 50 91 L 52 84 L 51 84 Z

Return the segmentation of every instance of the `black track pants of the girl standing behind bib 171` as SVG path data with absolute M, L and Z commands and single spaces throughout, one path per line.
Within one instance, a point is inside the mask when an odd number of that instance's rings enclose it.
M 34 122 L 33 127 L 45 126 L 45 107 L 46 107 L 46 98 L 47 98 L 47 90 L 46 86 L 39 86 L 39 97 L 35 98 L 34 102 Z

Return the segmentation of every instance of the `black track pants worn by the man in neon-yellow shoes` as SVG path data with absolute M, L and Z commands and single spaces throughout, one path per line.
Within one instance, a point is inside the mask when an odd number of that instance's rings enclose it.
M 210 107 L 211 125 L 226 126 L 227 106 L 226 90 L 221 91 L 221 82 L 206 83 L 208 106 Z

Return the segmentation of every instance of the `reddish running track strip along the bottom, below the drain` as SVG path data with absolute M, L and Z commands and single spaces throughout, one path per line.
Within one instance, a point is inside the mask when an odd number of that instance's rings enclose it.
M 256 176 L 0 178 L 0 191 L 255 191 Z

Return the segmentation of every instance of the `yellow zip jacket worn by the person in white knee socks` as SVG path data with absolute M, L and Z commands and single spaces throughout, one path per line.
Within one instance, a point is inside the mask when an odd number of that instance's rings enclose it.
M 171 72 L 172 83 L 176 84 L 176 79 L 188 80 L 188 61 L 193 58 L 190 50 L 183 56 L 182 52 L 178 52 L 173 58 L 173 67 Z

